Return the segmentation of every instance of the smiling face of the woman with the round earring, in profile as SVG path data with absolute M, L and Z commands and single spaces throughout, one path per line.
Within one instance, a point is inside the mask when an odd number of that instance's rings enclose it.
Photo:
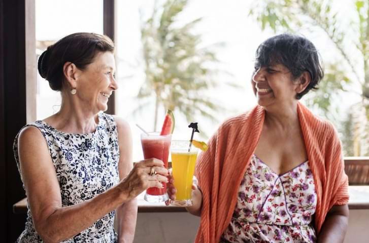
M 80 99 L 82 108 L 93 113 L 107 110 L 109 97 L 118 88 L 113 53 L 98 53 L 84 70 L 78 70 L 76 79 L 75 96 Z

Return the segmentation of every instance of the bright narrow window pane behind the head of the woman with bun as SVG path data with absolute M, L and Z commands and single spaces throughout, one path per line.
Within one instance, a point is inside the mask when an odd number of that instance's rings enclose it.
M 103 33 L 103 0 L 36 0 L 37 58 L 48 46 L 75 32 Z M 60 92 L 51 90 L 38 74 L 37 119 L 56 113 L 60 105 Z

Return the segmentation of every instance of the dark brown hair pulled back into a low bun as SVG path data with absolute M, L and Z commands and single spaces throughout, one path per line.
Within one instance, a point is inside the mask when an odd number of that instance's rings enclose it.
M 72 62 L 83 70 L 99 52 L 114 52 L 114 43 L 108 36 L 85 32 L 67 35 L 41 54 L 39 73 L 48 80 L 52 90 L 61 91 L 64 63 Z

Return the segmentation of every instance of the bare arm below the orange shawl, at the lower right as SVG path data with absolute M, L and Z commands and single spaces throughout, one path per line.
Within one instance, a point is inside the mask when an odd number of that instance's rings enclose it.
M 344 242 L 349 221 L 349 207 L 333 206 L 324 221 L 318 235 L 318 243 Z

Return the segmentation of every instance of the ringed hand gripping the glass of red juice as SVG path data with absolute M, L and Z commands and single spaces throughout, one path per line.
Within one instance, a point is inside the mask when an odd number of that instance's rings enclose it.
M 151 167 L 156 175 L 150 175 Z M 137 162 L 129 174 L 119 183 L 122 192 L 126 192 L 129 199 L 135 198 L 149 187 L 163 188 L 167 183 L 168 171 L 164 168 L 163 161 L 157 158 L 149 158 Z

